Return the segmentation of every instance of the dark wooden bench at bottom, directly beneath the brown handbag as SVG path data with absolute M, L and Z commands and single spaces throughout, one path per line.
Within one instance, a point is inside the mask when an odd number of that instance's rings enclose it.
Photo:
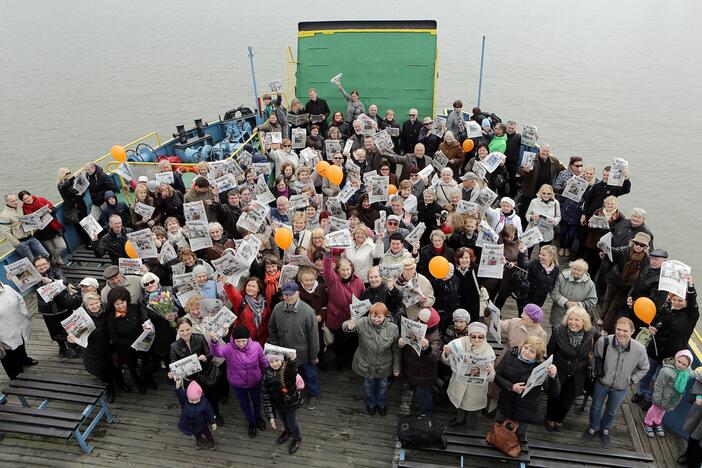
M 446 439 L 448 440 L 448 445 L 445 450 L 435 447 L 427 447 L 421 449 L 421 451 L 456 456 L 460 463 L 459 466 L 461 467 L 464 464 L 464 459 L 467 457 L 483 459 L 489 461 L 489 463 L 499 462 L 504 464 L 517 465 L 520 467 L 525 467 L 529 465 L 530 450 L 527 449 L 525 446 L 522 446 L 522 452 L 519 454 L 518 457 L 512 458 L 506 456 L 505 454 L 497 450 L 495 447 L 485 442 L 485 434 L 481 432 L 447 431 L 445 432 L 445 434 Z M 423 463 L 419 461 L 407 460 L 407 450 L 400 449 L 400 461 L 398 466 L 403 468 L 439 468 L 441 466 L 455 465 L 437 465 L 432 463 Z

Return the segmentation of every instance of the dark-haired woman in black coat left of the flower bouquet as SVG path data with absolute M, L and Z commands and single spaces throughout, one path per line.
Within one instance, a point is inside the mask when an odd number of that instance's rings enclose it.
M 139 393 L 146 393 L 147 384 L 152 389 L 158 388 L 151 377 L 149 353 L 132 348 L 132 343 L 142 332 L 150 329 L 145 323 L 147 319 L 146 311 L 131 303 L 131 295 L 126 288 L 118 286 L 107 294 L 107 336 L 110 338 L 115 385 L 126 393 L 131 393 L 132 387 L 124 382 L 124 364 L 137 384 Z

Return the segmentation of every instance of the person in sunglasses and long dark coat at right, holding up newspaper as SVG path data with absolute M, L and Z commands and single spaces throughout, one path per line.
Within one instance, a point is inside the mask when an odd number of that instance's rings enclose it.
M 600 319 L 597 321 L 597 324 L 601 325 L 603 333 L 613 331 L 614 321 L 618 317 L 620 309 L 626 304 L 629 288 L 650 268 L 648 259 L 650 243 L 651 236 L 639 232 L 629 242 L 629 245 L 612 249 L 612 269 L 607 274 L 607 290 L 600 309 Z M 604 258 L 606 255 L 604 243 L 598 242 L 597 247 L 602 249 L 600 257 Z

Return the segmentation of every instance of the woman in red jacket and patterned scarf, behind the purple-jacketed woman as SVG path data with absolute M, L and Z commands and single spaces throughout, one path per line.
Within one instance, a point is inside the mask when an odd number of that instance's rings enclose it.
M 268 339 L 271 307 L 261 291 L 263 291 L 261 280 L 255 276 L 246 278 L 241 291 L 229 282 L 224 283 L 224 292 L 232 303 L 232 312 L 236 314 L 232 329 L 239 325 L 245 326 L 249 329 L 251 339 L 263 346 Z

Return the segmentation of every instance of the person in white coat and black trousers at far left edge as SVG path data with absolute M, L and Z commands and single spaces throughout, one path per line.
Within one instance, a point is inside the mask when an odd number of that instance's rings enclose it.
M 0 361 L 11 380 L 25 366 L 38 363 L 24 349 L 28 339 L 29 313 L 24 299 L 10 286 L 0 283 Z

